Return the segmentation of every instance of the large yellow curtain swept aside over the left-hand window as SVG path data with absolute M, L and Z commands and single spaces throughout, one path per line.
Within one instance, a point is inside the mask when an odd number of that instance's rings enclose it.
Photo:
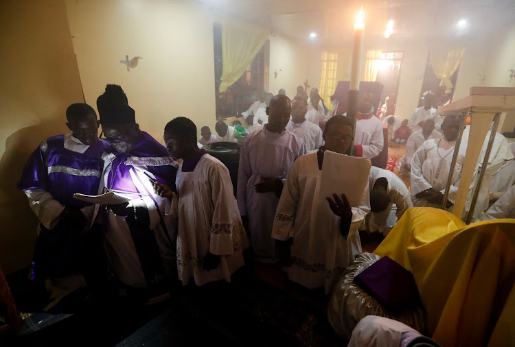
M 238 81 L 268 38 L 262 29 L 225 21 L 222 23 L 222 83 L 220 92 Z

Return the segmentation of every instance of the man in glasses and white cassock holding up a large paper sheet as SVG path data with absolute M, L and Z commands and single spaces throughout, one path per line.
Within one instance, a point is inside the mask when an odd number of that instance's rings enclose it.
M 325 287 L 325 294 L 361 253 L 358 227 L 370 211 L 368 184 L 359 207 L 351 208 L 343 194 L 319 201 L 324 153 L 345 154 L 353 133 L 347 117 L 329 119 L 323 132 L 325 145 L 317 153 L 301 156 L 290 168 L 273 224 L 272 237 L 279 240 L 288 278 L 308 289 Z M 317 224 L 319 204 L 329 204 L 332 211 L 323 225 Z

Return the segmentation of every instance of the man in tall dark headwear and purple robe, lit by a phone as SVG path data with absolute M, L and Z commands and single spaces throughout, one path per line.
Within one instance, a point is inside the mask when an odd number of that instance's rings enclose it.
M 176 162 L 163 145 L 139 130 L 120 86 L 108 84 L 97 99 L 100 123 L 111 147 L 103 156 L 99 193 L 114 191 L 130 202 L 100 208 L 108 258 L 120 293 L 140 298 L 166 296 L 175 277 L 174 219 L 150 180 L 175 191 Z M 149 180 L 150 179 L 150 180 Z

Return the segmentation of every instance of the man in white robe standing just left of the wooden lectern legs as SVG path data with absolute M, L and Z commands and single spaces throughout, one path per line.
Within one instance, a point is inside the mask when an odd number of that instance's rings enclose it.
M 444 199 L 449 177 L 450 163 L 459 134 L 461 115 L 447 116 L 442 123 L 443 136 L 424 142 L 411 160 L 411 194 L 415 207 L 439 208 Z M 450 186 L 447 207 L 454 204 L 458 191 L 461 167 L 464 163 L 466 145 L 460 146 Z

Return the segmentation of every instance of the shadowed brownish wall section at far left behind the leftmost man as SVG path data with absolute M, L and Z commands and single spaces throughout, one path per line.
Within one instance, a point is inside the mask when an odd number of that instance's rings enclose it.
M 0 264 L 10 273 L 30 264 L 37 226 L 16 182 L 83 99 L 64 1 L 0 1 L 0 32 Z

